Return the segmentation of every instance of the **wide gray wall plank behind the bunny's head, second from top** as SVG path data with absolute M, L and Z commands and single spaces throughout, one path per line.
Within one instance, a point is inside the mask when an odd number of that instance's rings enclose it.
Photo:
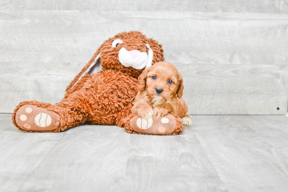
M 103 41 L 138 30 L 165 60 L 192 64 L 287 64 L 288 14 L 156 11 L 6 11 L 0 62 L 81 62 Z

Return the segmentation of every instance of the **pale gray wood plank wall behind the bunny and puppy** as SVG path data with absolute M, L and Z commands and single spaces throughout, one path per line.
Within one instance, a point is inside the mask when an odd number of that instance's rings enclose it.
M 189 114 L 287 113 L 287 0 L 1 0 L 0 112 L 59 102 L 102 42 L 130 30 L 163 44 Z

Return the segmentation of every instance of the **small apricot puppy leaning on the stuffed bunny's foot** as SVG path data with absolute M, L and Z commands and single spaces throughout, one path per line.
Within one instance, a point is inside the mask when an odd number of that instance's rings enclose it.
M 173 64 L 155 63 L 146 68 L 138 80 L 139 91 L 133 103 L 133 113 L 151 118 L 172 112 L 182 118 L 183 125 L 192 125 L 187 114 L 188 106 L 182 98 L 183 78 Z

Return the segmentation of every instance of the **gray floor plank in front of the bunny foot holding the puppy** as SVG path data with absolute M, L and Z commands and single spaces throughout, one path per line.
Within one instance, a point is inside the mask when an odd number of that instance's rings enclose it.
M 129 149 L 121 182 L 131 184 L 122 191 L 226 191 L 193 133 L 172 137 L 131 134 Z

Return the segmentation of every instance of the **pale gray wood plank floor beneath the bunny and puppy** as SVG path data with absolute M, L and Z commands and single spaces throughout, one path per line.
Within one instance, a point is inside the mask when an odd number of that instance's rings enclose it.
M 178 136 L 83 124 L 27 133 L 0 113 L 0 191 L 287 191 L 288 117 L 191 116 Z

